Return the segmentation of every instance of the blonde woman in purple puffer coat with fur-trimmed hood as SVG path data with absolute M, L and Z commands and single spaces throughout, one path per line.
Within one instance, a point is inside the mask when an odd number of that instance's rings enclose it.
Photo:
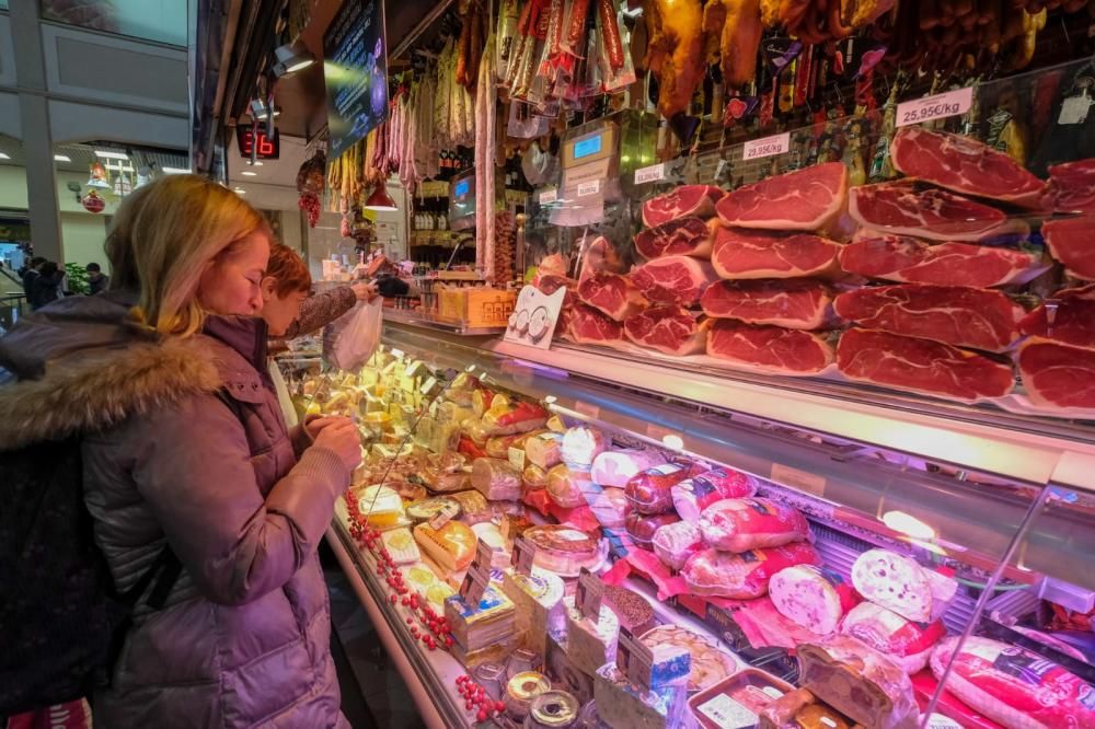
M 182 567 L 165 597 L 138 603 L 95 696 L 101 726 L 348 726 L 315 548 L 360 444 L 345 419 L 285 427 L 255 317 L 269 238 L 219 185 L 154 182 L 114 218 L 111 290 L 0 339 L 20 378 L 0 389 L 0 442 L 81 436 L 116 588 L 165 546 Z

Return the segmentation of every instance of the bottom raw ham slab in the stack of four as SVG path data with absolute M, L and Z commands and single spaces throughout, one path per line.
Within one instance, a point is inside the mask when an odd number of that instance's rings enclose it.
M 817 334 L 733 320 L 718 320 L 712 325 L 707 355 L 745 369 L 777 374 L 816 374 L 833 359 L 832 346 Z

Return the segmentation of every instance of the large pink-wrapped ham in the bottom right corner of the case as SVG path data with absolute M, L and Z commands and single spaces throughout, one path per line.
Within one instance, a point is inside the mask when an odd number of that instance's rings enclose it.
M 1004 727 L 1095 727 L 1095 686 L 1018 646 L 970 636 L 945 638 L 932 653 L 942 679 L 957 652 L 946 690 Z

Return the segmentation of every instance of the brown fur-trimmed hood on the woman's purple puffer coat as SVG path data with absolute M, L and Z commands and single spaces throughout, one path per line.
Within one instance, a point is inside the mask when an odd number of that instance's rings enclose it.
M 132 299 L 65 299 L 0 339 L 0 367 L 19 380 L 0 386 L 0 450 L 103 430 L 223 385 L 208 337 L 161 340 L 140 331 Z

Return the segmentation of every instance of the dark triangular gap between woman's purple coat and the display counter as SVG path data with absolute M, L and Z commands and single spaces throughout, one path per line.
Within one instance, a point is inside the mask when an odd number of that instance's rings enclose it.
M 343 713 L 354 729 L 425 728 L 402 676 L 346 576 L 324 560 L 331 592 L 332 646 L 343 687 Z M 339 656 L 342 653 L 342 656 Z

